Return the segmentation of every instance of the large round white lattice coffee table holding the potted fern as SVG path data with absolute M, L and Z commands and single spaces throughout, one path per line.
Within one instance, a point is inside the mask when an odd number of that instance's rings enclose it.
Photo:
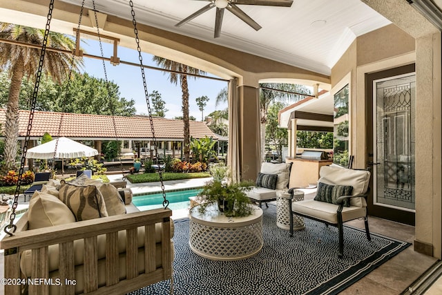
M 253 206 L 247 217 L 226 217 L 216 204 L 204 213 L 198 206 L 189 211 L 189 245 L 191 250 L 212 260 L 240 260 L 262 249 L 262 209 Z

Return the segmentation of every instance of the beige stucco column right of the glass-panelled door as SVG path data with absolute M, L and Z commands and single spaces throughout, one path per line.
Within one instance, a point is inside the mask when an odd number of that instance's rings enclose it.
M 414 249 L 441 258 L 441 33 L 416 38 Z

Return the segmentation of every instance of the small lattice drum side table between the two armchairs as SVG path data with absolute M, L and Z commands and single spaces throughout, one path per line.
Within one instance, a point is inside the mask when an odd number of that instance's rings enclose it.
M 293 200 L 289 199 L 290 194 L 287 192 L 278 193 L 276 196 L 276 226 L 280 229 L 290 229 L 290 212 L 289 204 L 290 202 L 298 202 L 304 200 L 304 192 L 294 190 Z M 304 218 L 300 216 L 292 216 L 293 218 L 293 228 L 298 231 L 305 228 Z

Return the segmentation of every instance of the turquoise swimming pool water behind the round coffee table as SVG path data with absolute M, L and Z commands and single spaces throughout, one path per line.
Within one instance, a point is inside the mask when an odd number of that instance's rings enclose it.
M 189 209 L 190 200 L 189 197 L 197 196 L 202 189 L 189 189 L 186 191 L 166 191 L 166 199 L 169 200 L 169 209 Z M 140 211 L 146 211 L 151 209 L 157 209 L 163 207 L 163 194 L 153 193 L 144 196 L 134 196 L 133 204 L 140 209 Z

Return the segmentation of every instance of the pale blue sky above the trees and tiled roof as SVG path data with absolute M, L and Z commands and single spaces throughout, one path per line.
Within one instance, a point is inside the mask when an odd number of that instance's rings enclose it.
M 135 40 L 134 40 L 135 44 Z M 81 47 L 85 53 L 90 55 L 101 56 L 98 41 L 87 40 L 86 43 L 82 42 Z M 104 57 L 111 57 L 113 55 L 113 44 L 102 42 Z M 142 48 L 143 50 L 143 48 Z M 118 57 L 120 61 L 131 61 L 133 63 L 140 64 L 138 59 L 137 50 L 129 48 L 118 47 Z M 142 53 L 143 64 L 146 66 L 155 66 L 152 61 L 153 55 Z M 105 61 L 106 75 L 108 81 L 114 82 L 119 86 L 120 97 L 124 97 L 127 100 L 133 99 L 135 101 L 135 108 L 137 114 L 147 114 L 146 98 L 144 95 L 144 86 L 142 82 L 142 74 L 139 66 L 128 66 L 126 64 L 119 64 L 118 66 L 111 65 L 108 61 Z M 103 62 L 99 59 L 92 59 L 84 57 L 84 72 L 89 75 L 104 79 Z M 181 86 L 172 84 L 169 82 L 169 73 L 164 73 L 160 70 L 151 70 L 144 68 L 146 75 L 146 84 L 148 93 L 158 91 L 161 94 L 162 99 L 166 102 L 166 118 L 172 119 L 173 117 L 182 116 L 182 92 Z M 210 75 L 208 73 L 208 75 Z M 212 77 L 215 77 L 211 75 Z M 227 87 L 227 82 L 217 81 L 213 79 L 204 79 L 189 77 L 189 115 L 196 118 L 197 121 L 202 120 L 201 111 L 198 109 L 195 99 L 197 97 L 206 95 L 209 97 L 204 108 L 204 117 L 215 110 L 223 110 L 227 108 L 227 104 L 220 104 L 215 107 L 215 99 L 222 88 Z

